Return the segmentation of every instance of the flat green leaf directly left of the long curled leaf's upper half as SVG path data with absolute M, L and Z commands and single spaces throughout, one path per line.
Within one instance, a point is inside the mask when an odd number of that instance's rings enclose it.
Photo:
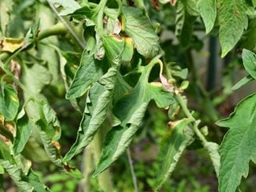
M 89 89 L 93 82 L 97 82 L 103 74 L 103 63 L 94 59 L 93 55 L 87 54 L 86 51 L 82 54 L 80 66 L 74 76 L 73 82 L 66 93 L 66 98 L 79 98 Z

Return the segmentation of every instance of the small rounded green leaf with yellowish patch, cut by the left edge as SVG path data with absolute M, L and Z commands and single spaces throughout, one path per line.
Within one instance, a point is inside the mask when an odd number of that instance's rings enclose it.
M 14 86 L 1 83 L 0 92 L 0 115 L 2 115 L 6 121 L 12 121 L 18 113 L 18 93 L 14 89 Z

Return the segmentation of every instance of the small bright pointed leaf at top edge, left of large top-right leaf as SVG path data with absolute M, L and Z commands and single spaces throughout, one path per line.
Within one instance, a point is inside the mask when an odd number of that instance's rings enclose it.
M 214 28 L 217 17 L 216 0 L 198 0 L 197 6 L 206 26 L 206 34 L 208 34 Z

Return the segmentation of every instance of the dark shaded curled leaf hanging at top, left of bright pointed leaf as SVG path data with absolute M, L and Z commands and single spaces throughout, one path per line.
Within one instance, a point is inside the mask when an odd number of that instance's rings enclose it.
M 195 17 L 189 14 L 190 1 L 179 1 L 176 12 L 176 26 L 175 35 L 177 36 L 182 47 L 187 48 L 190 46 L 190 40 L 193 34 L 193 26 Z M 194 12 L 193 12 L 194 13 Z

